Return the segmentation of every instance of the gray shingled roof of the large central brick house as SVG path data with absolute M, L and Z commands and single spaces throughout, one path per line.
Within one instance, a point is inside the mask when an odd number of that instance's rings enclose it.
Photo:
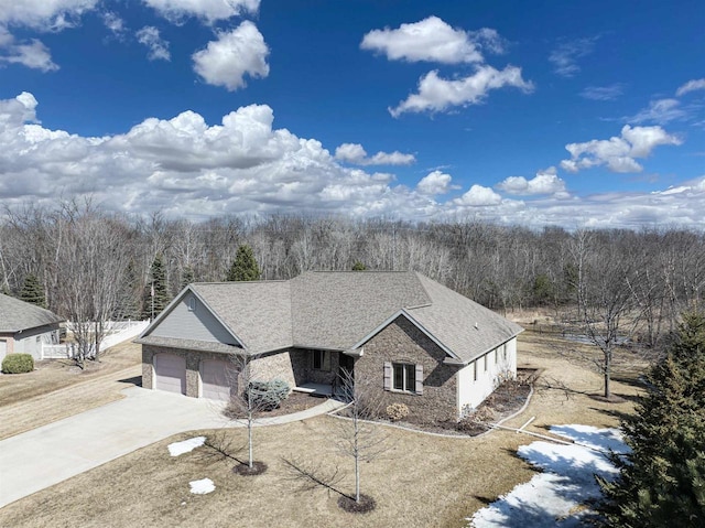
M 464 363 L 522 331 L 413 271 L 310 271 L 290 281 L 195 283 L 191 288 L 251 354 L 291 346 L 351 349 L 402 310 Z M 214 351 L 217 345 L 166 343 L 149 333 L 148 328 L 139 342 Z M 226 348 L 217 352 L 232 348 L 220 346 Z

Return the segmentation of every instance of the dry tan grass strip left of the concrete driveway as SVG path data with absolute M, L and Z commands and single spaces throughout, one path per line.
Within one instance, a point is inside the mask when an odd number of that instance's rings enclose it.
M 33 373 L 0 376 L 0 440 L 122 398 L 140 382 L 141 360 L 140 345 L 122 343 L 86 370 L 46 359 Z

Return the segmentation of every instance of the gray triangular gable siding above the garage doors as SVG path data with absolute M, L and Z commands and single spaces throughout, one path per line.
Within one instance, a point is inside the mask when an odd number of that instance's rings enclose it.
M 189 302 L 195 302 L 194 311 L 188 309 Z M 192 293 L 185 295 L 160 324 L 150 332 L 150 335 L 155 337 L 225 343 L 228 345 L 237 344 L 210 311 Z

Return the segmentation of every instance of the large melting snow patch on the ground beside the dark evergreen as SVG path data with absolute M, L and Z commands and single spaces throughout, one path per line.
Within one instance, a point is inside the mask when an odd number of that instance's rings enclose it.
M 589 425 L 556 425 L 551 431 L 579 444 L 533 442 L 519 448 L 519 455 L 544 473 L 519 484 L 509 494 L 478 510 L 469 520 L 475 528 L 574 528 L 588 510 L 586 500 L 598 498 L 595 475 L 611 479 L 618 470 L 607 460 L 609 450 L 628 451 L 617 429 Z

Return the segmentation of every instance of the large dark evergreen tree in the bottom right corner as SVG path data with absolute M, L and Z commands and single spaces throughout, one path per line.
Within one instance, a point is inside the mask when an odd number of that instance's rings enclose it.
M 610 527 L 705 526 L 705 316 L 687 314 L 649 375 L 637 413 L 622 420 L 631 452 L 600 481 Z

